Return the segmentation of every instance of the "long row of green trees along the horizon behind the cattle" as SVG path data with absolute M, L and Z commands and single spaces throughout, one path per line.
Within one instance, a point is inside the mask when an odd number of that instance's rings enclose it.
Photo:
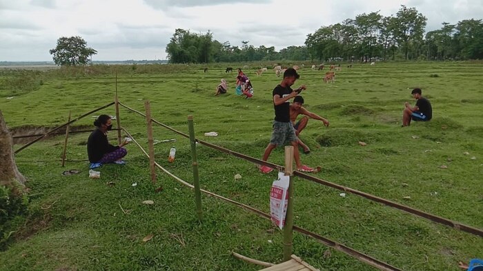
M 444 22 L 440 30 L 425 34 L 426 21 L 415 8 L 404 5 L 389 17 L 379 11 L 359 14 L 308 34 L 304 46 L 279 52 L 273 46 L 251 46 L 249 41 L 242 41 L 241 47 L 220 43 L 210 31 L 176 29 L 166 53 L 170 63 L 483 59 L 482 19 Z

